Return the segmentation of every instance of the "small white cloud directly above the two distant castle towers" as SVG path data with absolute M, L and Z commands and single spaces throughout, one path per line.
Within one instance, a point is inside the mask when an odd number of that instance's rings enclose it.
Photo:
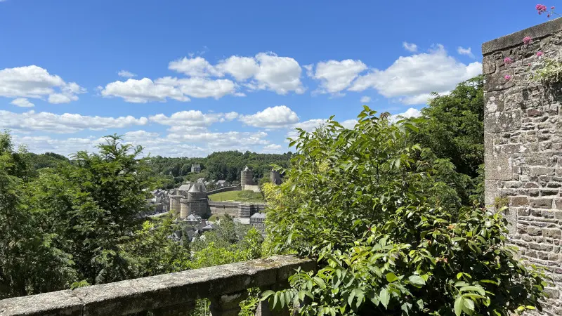
M 256 114 L 240 115 L 238 120 L 249 126 L 278 129 L 296 123 L 299 121 L 299 116 L 289 107 L 278 105 L 268 107 Z

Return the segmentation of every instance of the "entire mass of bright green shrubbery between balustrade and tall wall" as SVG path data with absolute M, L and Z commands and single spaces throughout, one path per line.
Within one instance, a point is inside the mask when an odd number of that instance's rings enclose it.
M 320 270 L 298 271 L 290 289 L 263 298 L 301 304 L 301 315 L 540 310 L 547 277 L 505 244 L 501 213 L 457 207 L 447 190 L 455 165 L 412 143 L 411 120 L 391 124 L 368 107 L 358 119 L 351 130 L 330 120 L 301 131 L 285 183 L 264 186 L 265 244 L 318 258 Z

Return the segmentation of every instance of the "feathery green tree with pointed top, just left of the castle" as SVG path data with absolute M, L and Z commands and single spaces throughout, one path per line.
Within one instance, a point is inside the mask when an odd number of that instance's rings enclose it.
M 73 164 L 46 170 L 30 186 L 30 204 L 53 244 L 72 255 L 79 279 L 89 284 L 138 275 L 123 244 L 141 228 L 154 181 L 142 147 L 107 136 L 98 153 L 77 152 Z

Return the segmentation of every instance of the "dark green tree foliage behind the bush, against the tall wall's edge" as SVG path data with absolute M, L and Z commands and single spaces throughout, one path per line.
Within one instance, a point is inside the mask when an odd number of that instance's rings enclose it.
M 449 95 L 436 95 L 421 110 L 424 118 L 414 120 L 419 133 L 412 134 L 412 143 L 431 150 L 433 160 L 452 163 L 454 168 L 441 180 L 457 192 L 463 205 L 483 199 L 478 190 L 483 183 L 479 169 L 484 163 L 483 86 L 482 76 L 464 81 Z

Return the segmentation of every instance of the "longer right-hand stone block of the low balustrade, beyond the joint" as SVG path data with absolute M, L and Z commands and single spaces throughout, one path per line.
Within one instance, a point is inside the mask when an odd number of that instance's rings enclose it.
M 294 256 L 273 256 L 253 261 L 94 285 L 73 291 L 86 315 L 129 315 L 186 304 L 195 298 L 236 294 L 250 287 L 286 282 L 280 272 L 315 268 L 315 262 Z

